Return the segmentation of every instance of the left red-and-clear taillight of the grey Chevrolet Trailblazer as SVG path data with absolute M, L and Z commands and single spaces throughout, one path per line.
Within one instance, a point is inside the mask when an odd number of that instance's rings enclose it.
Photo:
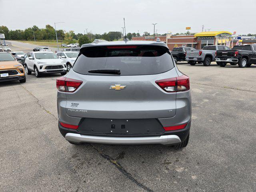
M 60 77 L 56 80 L 56 87 L 59 91 L 74 92 L 82 83 L 80 80 Z

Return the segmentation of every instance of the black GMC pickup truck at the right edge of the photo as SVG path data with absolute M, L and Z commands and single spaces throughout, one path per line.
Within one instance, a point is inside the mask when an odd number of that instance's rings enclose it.
M 236 45 L 232 50 L 216 51 L 215 61 L 221 67 L 227 63 L 239 67 L 250 67 L 256 64 L 256 45 Z

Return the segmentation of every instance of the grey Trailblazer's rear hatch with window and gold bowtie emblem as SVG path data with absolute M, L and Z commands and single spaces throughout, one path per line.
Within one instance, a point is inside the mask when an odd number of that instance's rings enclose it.
M 66 113 L 127 120 L 173 117 L 176 93 L 165 92 L 155 81 L 176 76 L 165 46 L 82 48 L 66 77 L 83 83 L 75 92 L 66 94 Z

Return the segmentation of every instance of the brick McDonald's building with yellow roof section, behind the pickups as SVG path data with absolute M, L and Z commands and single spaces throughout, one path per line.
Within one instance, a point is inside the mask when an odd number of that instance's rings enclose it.
M 160 38 L 165 42 L 170 50 L 174 47 L 193 47 L 202 49 L 206 45 L 226 45 L 231 46 L 231 32 L 228 31 L 209 31 L 200 32 L 194 35 L 172 35 L 148 37 L 132 37 L 132 40 L 156 40 Z

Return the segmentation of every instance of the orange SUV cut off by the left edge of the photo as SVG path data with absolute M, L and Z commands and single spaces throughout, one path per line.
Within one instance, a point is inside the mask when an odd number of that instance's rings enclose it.
M 0 52 L 0 82 L 19 80 L 20 83 L 26 82 L 24 67 L 12 54 Z

